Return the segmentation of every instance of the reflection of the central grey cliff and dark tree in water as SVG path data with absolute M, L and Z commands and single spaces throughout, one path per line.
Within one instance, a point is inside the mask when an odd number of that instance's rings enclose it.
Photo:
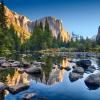
M 61 66 L 65 68 L 68 65 L 68 59 L 63 59 Z M 30 75 L 30 79 L 36 80 L 36 82 L 52 85 L 63 81 L 64 72 L 64 69 L 61 70 L 58 65 L 53 65 L 52 61 L 49 59 L 46 66 L 43 68 L 42 75 Z

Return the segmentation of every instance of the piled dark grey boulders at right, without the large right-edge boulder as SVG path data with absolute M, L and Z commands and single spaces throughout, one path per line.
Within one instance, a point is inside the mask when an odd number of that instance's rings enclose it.
M 76 61 L 76 66 L 73 66 L 72 72 L 69 74 L 70 81 L 76 81 L 83 77 L 85 72 L 93 73 L 96 68 L 92 65 L 90 60 Z

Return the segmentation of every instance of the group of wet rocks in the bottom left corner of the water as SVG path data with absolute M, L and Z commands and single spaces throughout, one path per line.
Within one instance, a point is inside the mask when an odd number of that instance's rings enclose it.
M 16 86 L 6 86 L 4 83 L 0 82 L 0 94 L 3 94 L 5 90 L 9 91 L 9 93 L 16 95 L 22 91 L 28 90 L 30 87 L 29 84 L 18 84 Z M 40 97 L 35 92 L 25 92 L 21 96 L 22 100 L 33 100 L 34 98 L 38 98 L 38 100 L 46 100 L 45 97 Z

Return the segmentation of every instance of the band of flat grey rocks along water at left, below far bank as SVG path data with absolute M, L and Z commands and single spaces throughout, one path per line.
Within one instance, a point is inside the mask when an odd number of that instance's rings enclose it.
M 21 68 L 19 72 L 26 72 L 28 74 L 41 73 L 42 65 L 45 65 L 45 62 L 33 61 L 31 63 L 26 61 L 15 61 L 15 60 L 6 60 L 3 57 L 0 57 L 0 70 L 5 70 L 8 68 Z

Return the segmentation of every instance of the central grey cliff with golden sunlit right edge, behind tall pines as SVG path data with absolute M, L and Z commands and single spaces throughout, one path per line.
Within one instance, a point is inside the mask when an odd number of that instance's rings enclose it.
M 58 36 L 60 36 L 62 41 L 70 41 L 70 35 L 68 32 L 65 32 L 61 20 L 48 16 L 37 20 L 37 23 L 42 22 L 43 26 L 45 27 L 45 20 L 47 20 L 49 23 L 49 29 L 51 30 L 53 37 L 58 38 Z M 34 22 L 32 23 L 32 25 L 34 25 Z

